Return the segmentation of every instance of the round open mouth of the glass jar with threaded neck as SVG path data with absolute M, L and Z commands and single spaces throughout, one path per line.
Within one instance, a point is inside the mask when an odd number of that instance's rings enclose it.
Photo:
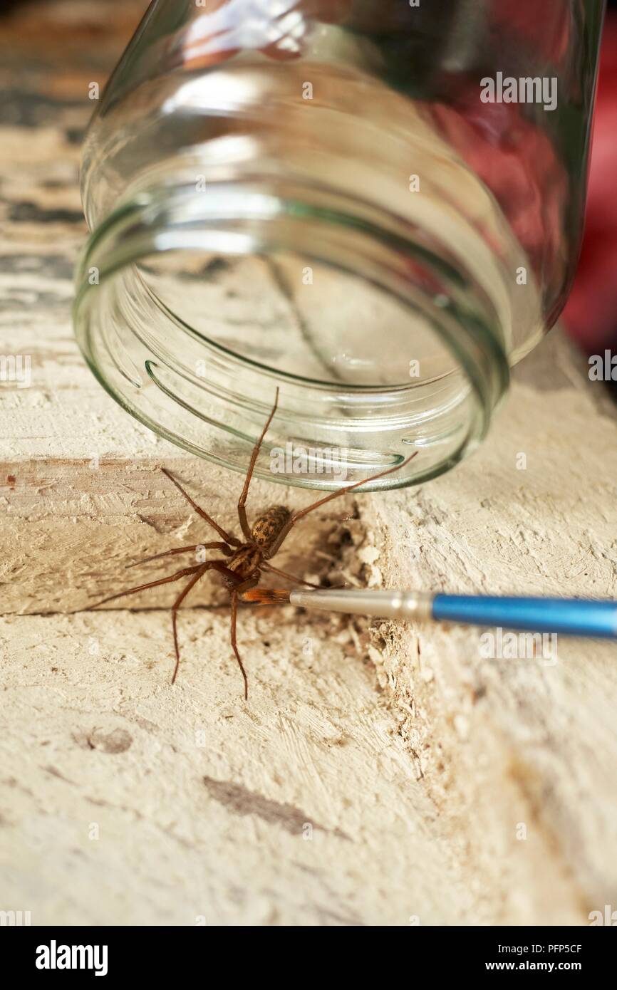
M 415 449 L 361 490 L 442 473 L 509 380 L 500 316 L 450 245 L 293 177 L 176 176 L 129 194 L 83 253 L 74 325 L 128 412 L 234 470 L 278 388 L 256 474 L 298 487 L 357 483 Z

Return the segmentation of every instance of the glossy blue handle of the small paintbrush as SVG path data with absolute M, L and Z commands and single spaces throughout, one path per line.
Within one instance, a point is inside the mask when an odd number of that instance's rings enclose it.
M 438 622 L 617 639 L 617 602 L 440 594 L 433 599 L 432 613 Z

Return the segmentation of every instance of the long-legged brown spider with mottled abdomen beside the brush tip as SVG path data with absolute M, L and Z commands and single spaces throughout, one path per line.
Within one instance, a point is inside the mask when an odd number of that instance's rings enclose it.
M 219 574 L 223 575 L 230 592 L 232 605 L 232 648 L 236 654 L 238 665 L 240 666 L 244 677 L 245 699 L 247 699 L 249 697 L 249 682 L 247 680 L 247 672 L 238 651 L 238 644 L 236 641 L 238 602 L 247 602 L 254 605 L 282 605 L 289 601 L 289 591 L 284 588 L 257 589 L 257 584 L 261 578 L 261 571 L 263 570 L 272 574 L 277 574 L 279 577 L 284 577 L 286 580 L 293 581 L 295 584 L 304 584 L 310 588 L 318 587 L 318 585 L 311 584 L 310 581 L 302 581 L 299 577 L 295 577 L 293 574 L 288 574 L 284 570 L 278 570 L 277 567 L 273 567 L 271 563 L 268 563 L 270 558 L 273 557 L 274 554 L 280 549 L 291 528 L 295 526 L 298 520 L 302 519 L 304 516 L 307 516 L 309 512 L 312 512 L 313 509 L 318 509 L 319 506 L 325 505 L 326 502 L 331 502 L 332 499 L 338 498 L 339 495 L 345 494 L 346 491 L 351 491 L 353 488 L 358 488 L 359 485 L 366 484 L 369 481 L 376 481 L 377 478 L 385 477 L 386 474 L 390 474 L 392 471 L 400 470 L 401 467 L 408 464 L 409 461 L 412 460 L 418 453 L 416 450 L 401 464 L 397 464 L 395 467 L 389 467 L 386 471 L 381 471 L 379 474 L 373 474 L 370 478 L 357 481 L 353 485 L 344 485 L 343 488 L 340 488 L 335 492 L 331 492 L 329 495 L 326 495 L 325 498 L 309 505 L 308 508 L 300 509 L 299 512 L 291 513 L 282 505 L 273 505 L 269 509 L 266 509 L 262 515 L 257 517 L 253 529 L 251 529 L 247 519 L 247 510 L 245 508 L 247 504 L 247 496 L 249 494 L 249 485 L 251 484 L 251 479 L 253 477 L 259 449 L 263 443 L 263 438 L 267 433 L 267 429 L 272 422 L 277 406 L 278 389 L 276 389 L 276 398 L 274 400 L 272 411 L 267 418 L 265 426 L 261 432 L 261 436 L 259 437 L 251 455 L 251 462 L 249 464 L 249 470 L 245 479 L 245 486 L 242 490 L 242 495 L 240 496 L 240 501 L 238 503 L 238 518 L 240 520 L 240 526 L 246 543 L 243 544 L 238 537 L 233 536 L 231 533 L 226 533 L 226 531 L 223 530 L 218 523 L 215 523 L 215 521 L 211 519 L 211 517 L 193 501 L 188 492 L 184 491 L 182 486 L 175 480 L 169 471 L 162 467 L 161 471 L 163 474 L 165 474 L 166 477 L 173 482 L 175 487 L 182 493 L 186 501 L 195 510 L 195 512 L 201 516 L 202 519 L 205 519 L 213 530 L 216 530 L 219 536 L 223 538 L 223 542 L 196 544 L 194 546 L 178 546 L 172 550 L 165 550 L 164 553 L 156 553 L 154 556 L 146 557 L 143 560 L 137 560 L 136 563 L 129 564 L 129 566 L 135 567 L 138 564 L 148 563 L 150 560 L 159 560 L 161 557 L 172 556 L 175 553 L 188 553 L 191 550 L 196 550 L 198 547 L 211 550 L 220 550 L 223 554 L 225 554 L 227 559 L 206 560 L 205 562 L 198 563 L 193 567 L 183 567 L 182 570 L 176 571 L 175 574 L 171 574 L 170 577 L 161 577 L 157 581 L 150 581 L 148 584 L 140 584 L 138 587 L 129 588 L 127 591 L 120 591 L 118 594 L 110 595 L 108 598 L 103 598 L 100 602 L 96 602 L 94 605 L 90 606 L 90 608 L 96 609 L 99 605 L 104 605 L 106 602 L 113 602 L 115 599 L 123 598 L 125 595 L 135 595 L 140 591 L 146 591 L 148 588 L 156 588 L 160 584 L 169 584 L 172 581 L 179 581 L 182 577 L 190 577 L 190 580 L 180 592 L 171 608 L 171 625 L 173 629 L 173 645 L 175 648 L 175 667 L 171 678 L 172 684 L 175 681 L 180 663 L 176 628 L 177 611 L 189 591 L 197 584 L 197 581 L 199 581 L 199 579 L 203 577 L 207 571 L 215 570 L 218 571 Z

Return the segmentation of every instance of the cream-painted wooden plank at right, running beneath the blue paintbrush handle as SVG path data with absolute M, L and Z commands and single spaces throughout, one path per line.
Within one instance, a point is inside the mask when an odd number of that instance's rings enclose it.
M 615 406 L 559 332 L 516 378 L 462 467 L 371 502 L 386 586 L 617 598 Z M 400 734 L 493 918 L 559 924 L 567 906 L 584 923 L 614 903 L 614 644 L 559 638 L 548 661 L 495 660 L 478 630 L 372 635 Z

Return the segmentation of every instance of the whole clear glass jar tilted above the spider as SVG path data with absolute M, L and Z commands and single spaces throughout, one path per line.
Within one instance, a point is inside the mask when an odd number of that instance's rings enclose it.
M 334 488 L 416 448 L 367 487 L 453 466 L 566 301 L 602 15 L 155 0 L 83 152 L 95 374 L 242 471 L 278 386 L 274 480 Z

